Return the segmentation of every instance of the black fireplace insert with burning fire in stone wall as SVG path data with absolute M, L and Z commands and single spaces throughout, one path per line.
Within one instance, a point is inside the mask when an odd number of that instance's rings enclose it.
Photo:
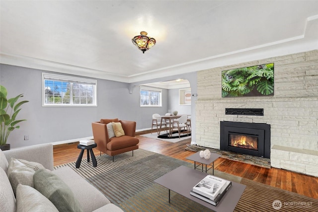
M 270 125 L 220 122 L 220 149 L 270 158 Z

